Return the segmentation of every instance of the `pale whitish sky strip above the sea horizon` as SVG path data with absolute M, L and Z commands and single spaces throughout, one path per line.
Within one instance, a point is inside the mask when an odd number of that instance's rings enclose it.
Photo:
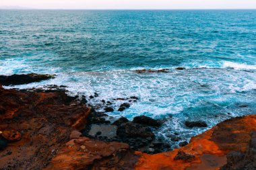
M 36 9 L 256 9 L 256 0 L 0 0 Z

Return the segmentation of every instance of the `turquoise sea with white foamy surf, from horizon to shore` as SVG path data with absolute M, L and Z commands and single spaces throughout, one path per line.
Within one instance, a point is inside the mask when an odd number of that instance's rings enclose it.
M 162 68 L 170 71 L 134 71 Z M 172 115 L 158 136 L 189 140 L 207 128 L 185 120 L 210 128 L 256 113 L 256 10 L 0 10 L 0 74 L 31 72 L 57 77 L 14 87 L 67 85 L 70 95 L 97 92 L 94 105 L 135 95 L 137 103 L 110 116 Z M 115 110 L 121 103 L 113 101 Z

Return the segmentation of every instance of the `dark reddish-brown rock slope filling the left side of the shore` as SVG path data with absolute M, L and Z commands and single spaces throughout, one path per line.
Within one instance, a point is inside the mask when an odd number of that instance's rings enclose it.
M 73 129 L 82 130 L 90 108 L 63 91 L 20 92 L 0 86 L 0 169 L 42 169 Z

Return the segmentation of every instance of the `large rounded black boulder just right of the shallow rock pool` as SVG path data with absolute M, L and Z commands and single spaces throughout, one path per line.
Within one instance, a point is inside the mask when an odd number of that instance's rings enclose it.
M 127 122 L 125 124 L 121 124 L 117 128 L 117 135 L 120 137 L 139 137 L 139 138 L 154 138 L 154 133 L 152 130 L 141 124 L 136 124 L 134 122 Z

